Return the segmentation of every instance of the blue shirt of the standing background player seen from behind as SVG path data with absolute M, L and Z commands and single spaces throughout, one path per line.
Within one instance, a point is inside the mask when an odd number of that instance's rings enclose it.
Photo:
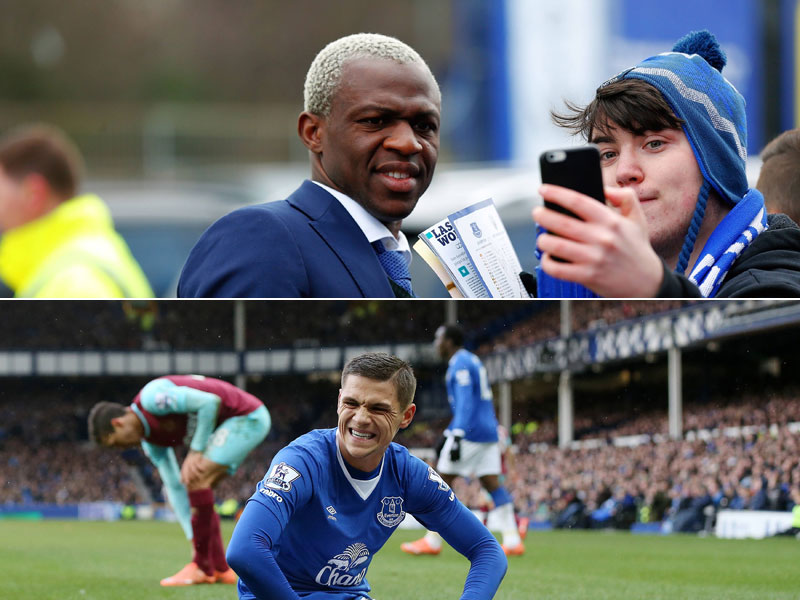
M 449 432 L 471 442 L 496 442 L 492 388 L 480 359 L 461 348 L 450 357 L 445 382 L 453 412 Z

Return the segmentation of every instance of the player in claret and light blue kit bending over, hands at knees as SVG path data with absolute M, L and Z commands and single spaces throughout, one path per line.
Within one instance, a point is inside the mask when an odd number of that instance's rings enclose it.
M 118 448 L 141 443 L 192 540 L 192 562 L 161 585 L 236 583 L 236 573 L 225 561 L 212 488 L 236 472 L 270 425 L 261 400 L 226 381 L 200 375 L 167 375 L 144 386 L 128 407 L 99 402 L 92 408 L 89 438 Z M 189 451 L 178 467 L 174 448 L 184 440 Z

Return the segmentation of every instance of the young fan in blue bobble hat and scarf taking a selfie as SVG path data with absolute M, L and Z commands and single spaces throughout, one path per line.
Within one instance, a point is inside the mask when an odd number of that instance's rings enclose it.
M 553 115 L 599 147 L 608 205 L 542 186 L 579 218 L 534 209 L 550 232 L 540 296 L 554 278 L 612 298 L 800 295 L 800 228 L 748 189 L 744 99 L 726 62 L 712 34 L 692 32 Z

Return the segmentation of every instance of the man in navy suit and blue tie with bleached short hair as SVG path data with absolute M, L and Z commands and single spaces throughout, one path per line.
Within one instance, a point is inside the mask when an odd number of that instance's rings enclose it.
M 311 180 L 211 225 L 183 267 L 179 297 L 413 295 L 400 225 L 439 154 L 433 74 L 399 40 L 356 34 L 317 55 L 304 96 L 298 134 Z

